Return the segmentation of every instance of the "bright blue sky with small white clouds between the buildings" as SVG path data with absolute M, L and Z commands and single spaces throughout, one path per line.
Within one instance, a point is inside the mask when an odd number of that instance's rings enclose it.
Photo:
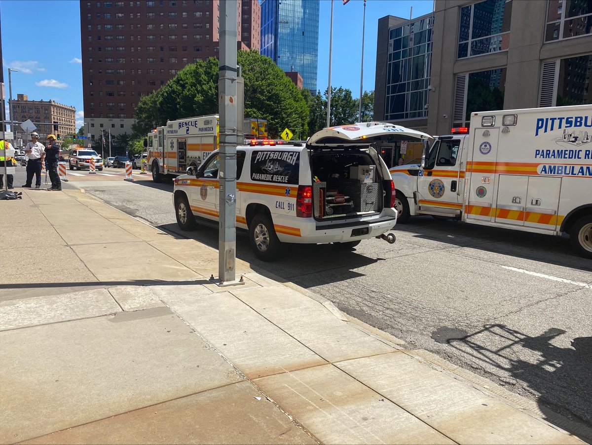
M 364 42 L 363 89 L 374 89 L 378 19 L 385 15 L 413 17 L 432 11 L 432 0 L 368 0 Z M 82 126 L 82 65 L 78 0 L 1 0 L 2 58 L 8 104 L 8 68 L 12 97 L 55 100 L 76 107 L 76 128 Z M 363 0 L 333 8 L 331 84 L 349 88 L 359 97 Z M 327 88 L 329 72 L 330 0 L 320 2 L 317 89 Z M 51 20 L 51 21 L 50 21 Z M 7 105 L 8 106 L 8 105 Z

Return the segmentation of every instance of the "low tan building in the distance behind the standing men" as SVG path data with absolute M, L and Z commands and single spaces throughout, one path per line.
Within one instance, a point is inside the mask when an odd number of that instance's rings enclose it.
M 44 138 L 52 133 L 57 133 L 60 137 L 76 133 L 76 108 L 69 105 L 59 104 L 53 100 L 29 100 L 26 94 L 17 94 L 17 98 L 12 100 L 12 110 L 15 121 L 30 120 L 35 124 L 40 140 L 45 140 Z M 57 124 L 57 130 L 54 130 L 54 124 Z M 24 137 L 20 125 L 15 125 L 15 130 L 15 140 L 31 139 L 28 136 Z

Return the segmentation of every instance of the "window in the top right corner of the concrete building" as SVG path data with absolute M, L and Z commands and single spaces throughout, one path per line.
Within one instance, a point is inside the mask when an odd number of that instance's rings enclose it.
M 545 41 L 571 39 L 592 33 L 592 4 L 589 1 L 548 2 Z

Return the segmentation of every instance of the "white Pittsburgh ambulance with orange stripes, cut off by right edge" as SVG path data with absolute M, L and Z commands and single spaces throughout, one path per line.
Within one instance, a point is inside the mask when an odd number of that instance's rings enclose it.
M 570 235 L 592 258 L 592 105 L 473 113 L 420 166 L 390 169 L 398 221 L 413 215 Z

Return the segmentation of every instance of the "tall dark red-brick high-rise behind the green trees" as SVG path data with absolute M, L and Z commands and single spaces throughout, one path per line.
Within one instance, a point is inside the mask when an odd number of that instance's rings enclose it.
M 260 49 L 256 0 L 240 0 L 237 47 Z M 220 0 L 80 2 L 86 132 L 131 132 L 140 97 L 188 63 L 218 56 Z M 179 118 L 185 116 L 178 116 Z

